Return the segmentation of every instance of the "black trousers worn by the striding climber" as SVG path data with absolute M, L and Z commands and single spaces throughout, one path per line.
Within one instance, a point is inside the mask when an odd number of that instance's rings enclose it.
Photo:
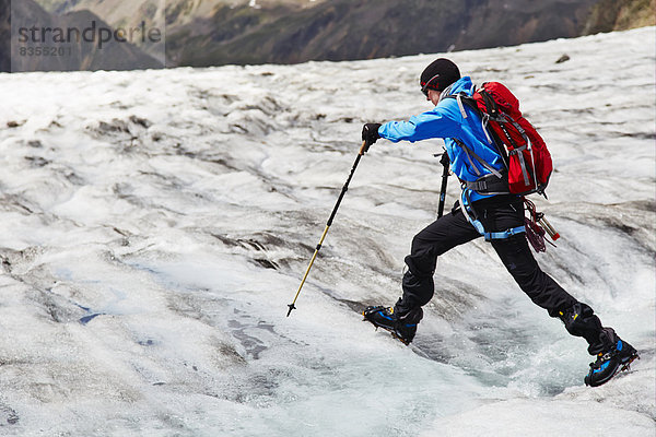
M 516 196 L 495 196 L 473 202 L 472 206 L 487 232 L 503 232 L 524 225 L 524 203 L 522 198 Z M 456 208 L 417 234 L 412 240 L 411 253 L 406 257 L 408 271 L 403 275 L 403 296 L 397 303 L 396 311 L 403 314 L 427 304 L 435 291 L 433 274 L 437 257 L 479 237 L 481 235 L 478 231 Z M 549 311 L 549 316 L 560 317 L 576 304 L 587 307 L 585 304 L 579 304 L 551 276 L 542 272 L 524 234 L 492 240 L 492 247 L 524 293 L 536 305 Z M 587 308 L 590 322 L 595 324 L 593 331 L 596 331 L 597 327 L 600 328 L 600 322 L 591 315 L 591 308 Z M 596 333 L 584 334 L 572 331 L 571 333 L 585 336 L 590 344 L 597 341 Z

